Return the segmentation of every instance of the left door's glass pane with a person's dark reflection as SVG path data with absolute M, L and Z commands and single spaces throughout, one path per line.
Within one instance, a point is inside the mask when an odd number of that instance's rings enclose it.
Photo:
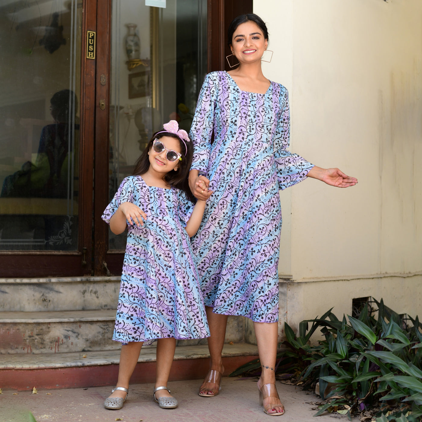
M 81 2 L 0 4 L 0 250 L 76 250 Z

